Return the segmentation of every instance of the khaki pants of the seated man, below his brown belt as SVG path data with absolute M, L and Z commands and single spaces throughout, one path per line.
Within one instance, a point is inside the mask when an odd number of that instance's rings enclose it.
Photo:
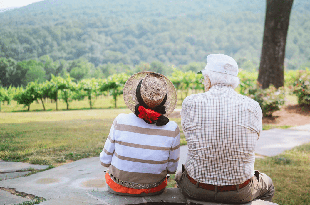
M 183 168 L 183 167 L 182 167 Z M 234 191 L 211 191 L 198 187 L 198 183 L 194 185 L 186 176 L 187 172 L 179 169 L 175 174 L 175 181 L 182 189 L 185 197 L 206 202 L 218 203 L 247 203 L 253 199 L 262 199 L 271 201 L 274 194 L 274 186 L 270 177 L 264 173 L 255 171 L 255 175 L 251 178 L 251 182 L 245 187 Z M 215 188 L 216 190 L 216 188 Z

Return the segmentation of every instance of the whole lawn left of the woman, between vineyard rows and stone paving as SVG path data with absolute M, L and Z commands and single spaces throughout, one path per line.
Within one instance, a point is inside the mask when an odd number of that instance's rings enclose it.
M 130 113 L 130 110 L 69 110 L 47 112 L 47 115 L 4 113 L 14 123 L 0 123 L 0 159 L 56 165 L 99 156 L 119 113 Z

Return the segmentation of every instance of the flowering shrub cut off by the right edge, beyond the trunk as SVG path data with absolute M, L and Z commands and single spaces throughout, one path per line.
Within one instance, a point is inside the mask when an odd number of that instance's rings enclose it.
M 297 79 L 289 88 L 298 97 L 299 105 L 310 105 L 310 70 L 299 70 Z

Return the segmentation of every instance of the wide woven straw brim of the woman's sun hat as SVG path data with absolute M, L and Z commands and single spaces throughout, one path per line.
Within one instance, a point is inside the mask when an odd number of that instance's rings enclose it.
M 151 71 L 143 71 L 132 75 L 125 83 L 123 89 L 123 98 L 127 107 L 131 110 L 131 112 L 135 113 L 135 106 L 139 104 L 136 97 L 137 85 L 147 74 L 155 73 Z M 159 73 L 157 75 L 162 76 L 167 83 L 167 101 L 164 106 L 166 106 L 166 114 L 165 117 L 168 117 L 173 110 L 175 109 L 177 99 L 177 94 L 173 83 L 165 76 Z

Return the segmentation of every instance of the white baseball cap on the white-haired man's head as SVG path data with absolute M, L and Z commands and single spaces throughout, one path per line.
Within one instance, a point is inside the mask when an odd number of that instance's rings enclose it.
M 208 55 L 205 69 L 197 73 L 202 73 L 204 70 L 212 70 L 219 73 L 238 76 L 237 62 L 232 57 L 221 53 Z

